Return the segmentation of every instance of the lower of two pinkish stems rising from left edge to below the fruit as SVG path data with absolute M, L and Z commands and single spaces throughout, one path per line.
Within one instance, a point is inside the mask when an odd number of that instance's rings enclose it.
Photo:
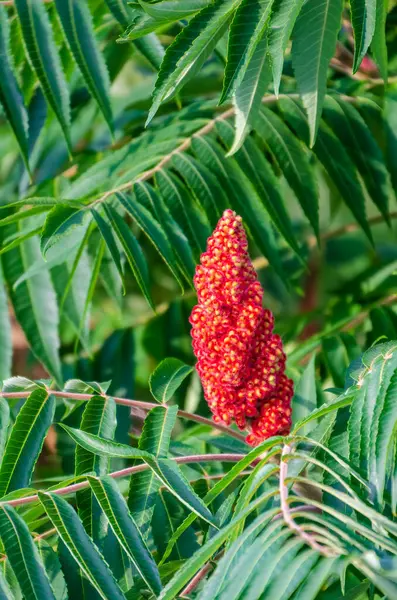
M 178 456 L 176 458 L 171 457 L 178 464 L 191 464 L 191 463 L 201 463 L 201 462 L 238 462 L 242 458 L 244 458 L 245 454 L 194 454 L 192 456 Z M 118 479 L 119 477 L 128 477 L 133 473 L 139 473 L 141 471 L 146 471 L 150 467 L 146 463 L 142 465 L 135 465 L 133 467 L 127 467 L 126 469 L 121 469 L 120 471 L 113 471 L 113 473 L 109 473 L 109 477 L 113 477 L 113 479 Z M 87 480 L 80 481 L 79 483 L 73 483 L 72 485 L 65 486 L 63 488 L 59 488 L 57 490 L 52 490 L 52 494 L 56 494 L 57 496 L 66 496 L 67 494 L 74 494 L 79 492 L 80 490 L 84 490 L 89 487 L 89 482 Z M 25 496 L 25 498 L 15 498 L 14 500 L 4 500 L 0 502 L 0 506 L 7 504 L 8 506 L 22 506 L 24 504 L 31 504 L 32 502 L 36 502 L 39 499 L 37 494 L 33 494 L 32 496 Z

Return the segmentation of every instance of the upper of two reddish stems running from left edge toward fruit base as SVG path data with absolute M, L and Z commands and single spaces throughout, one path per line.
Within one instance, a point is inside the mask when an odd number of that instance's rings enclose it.
M 87 402 L 91 400 L 91 398 L 95 394 L 76 394 L 73 392 L 66 391 L 56 391 L 56 390 L 48 390 L 48 393 L 52 396 L 56 396 L 57 398 L 68 398 L 69 400 L 83 401 Z M 0 392 L 0 397 L 2 398 L 27 398 L 31 392 Z M 130 406 L 132 410 L 141 409 L 141 410 L 151 410 L 152 408 L 156 408 L 157 406 L 161 406 L 155 402 L 143 402 L 142 400 L 129 400 L 128 398 L 118 398 L 117 396 L 106 396 L 103 394 L 104 398 L 113 398 L 116 404 L 122 404 L 124 406 Z M 218 431 L 222 431 L 223 433 L 229 435 L 230 437 L 234 437 L 237 440 L 242 442 L 245 441 L 244 436 L 226 425 L 222 425 L 221 423 L 215 423 L 211 421 L 211 419 L 207 419 L 206 417 L 202 417 L 201 415 L 195 415 L 193 413 L 189 413 L 185 410 L 178 410 L 178 417 L 181 419 L 188 419 L 189 421 L 195 421 L 196 423 L 203 423 L 204 425 L 209 425 L 214 429 L 218 429 Z

